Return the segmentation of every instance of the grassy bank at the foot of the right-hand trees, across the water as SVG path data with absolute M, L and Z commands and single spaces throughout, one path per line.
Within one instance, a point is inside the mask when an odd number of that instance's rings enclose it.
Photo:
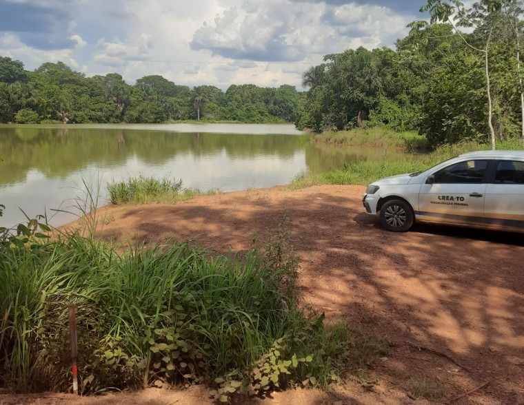
M 350 131 L 326 131 L 315 135 L 318 143 L 367 147 L 399 147 L 409 150 L 429 149 L 427 140 L 414 131 L 394 132 L 385 127 L 356 128 Z

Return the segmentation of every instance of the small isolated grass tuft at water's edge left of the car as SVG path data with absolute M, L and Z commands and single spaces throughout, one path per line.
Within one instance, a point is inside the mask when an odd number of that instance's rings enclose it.
M 130 177 L 127 180 L 108 184 L 110 201 L 115 205 L 165 203 L 174 204 L 201 195 L 212 195 L 221 191 L 213 189 L 203 193 L 199 189 L 182 188 L 182 180 L 154 177 Z

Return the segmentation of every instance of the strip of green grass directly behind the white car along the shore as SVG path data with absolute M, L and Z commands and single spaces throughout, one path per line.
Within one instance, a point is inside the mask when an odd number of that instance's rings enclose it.
M 490 149 L 490 145 L 476 142 L 444 145 L 428 154 L 406 154 L 400 160 L 387 157 L 382 160 L 359 160 L 347 162 L 339 169 L 332 169 L 323 173 L 299 174 L 292 180 L 287 189 L 302 189 L 312 185 L 368 185 L 379 178 L 396 174 L 419 172 L 465 152 Z M 517 140 L 499 142 L 497 149 L 522 149 Z

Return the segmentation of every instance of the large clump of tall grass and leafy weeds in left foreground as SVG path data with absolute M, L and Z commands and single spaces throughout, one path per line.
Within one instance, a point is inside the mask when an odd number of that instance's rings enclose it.
M 227 400 L 288 384 L 327 386 L 353 364 L 348 353 L 366 353 L 368 362 L 383 350 L 299 309 L 284 220 L 242 255 L 171 240 L 119 253 L 92 236 L 44 236 L 0 244 L 1 388 L 70 388 L 70 304 L 83 393 L 207 383 Z

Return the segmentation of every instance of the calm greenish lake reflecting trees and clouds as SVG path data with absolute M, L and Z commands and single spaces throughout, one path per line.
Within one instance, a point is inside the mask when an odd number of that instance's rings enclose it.
M 74 220 L 56 210 L 74 211 L 85 184 L 104 205 L 108 182 L 140 174 L 238 191 L 382 156 L 381 149 L 311 143 L 293 125 L 0 125 L 0 227 L 26 220 L 21 210 L 30 218 L 46 211 L 54 226 Z

